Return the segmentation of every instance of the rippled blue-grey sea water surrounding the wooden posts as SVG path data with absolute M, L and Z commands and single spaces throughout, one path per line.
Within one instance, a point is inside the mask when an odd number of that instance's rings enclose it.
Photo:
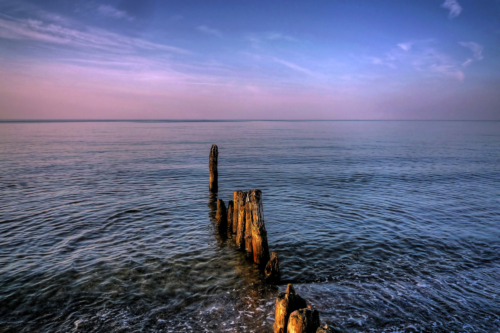
M 0 332 L 500 332 L 500 122 L 0 123 Z M 208 153 L 219 147 L 219 192 Z M 262 190 L 273 286 L 213 228 Z

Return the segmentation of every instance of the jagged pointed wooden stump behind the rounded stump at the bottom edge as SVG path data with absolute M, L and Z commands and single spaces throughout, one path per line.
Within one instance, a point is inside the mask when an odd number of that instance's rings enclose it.
M 276 313 L 274 318 L 274 333 L 286 333 L 288 318 L 295 310 L 307 307 L 303 298 L 295 294 L 291 284 L 286 287 L 286 293 L 278 293 L 276 297 Z

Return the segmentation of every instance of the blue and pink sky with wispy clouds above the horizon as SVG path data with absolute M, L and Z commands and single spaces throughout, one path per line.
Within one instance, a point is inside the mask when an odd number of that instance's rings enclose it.
M 0 0 L 0 119 L 500 120 L 500 0 Z

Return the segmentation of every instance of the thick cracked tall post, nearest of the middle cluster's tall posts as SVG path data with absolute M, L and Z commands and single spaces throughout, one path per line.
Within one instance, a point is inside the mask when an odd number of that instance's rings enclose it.
M 265 265 L 269 261 L 269 246 L 267 245 L 267 231 L 264 224 L 264 210 L 262 208 L 262 192 L 248 191 L 248 203 L 251 210 L 251 240 L 253 261 Z

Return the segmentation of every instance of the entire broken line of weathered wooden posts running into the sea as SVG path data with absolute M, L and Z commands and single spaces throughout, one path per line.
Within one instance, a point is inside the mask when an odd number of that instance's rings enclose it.
M 210 171 L 209 189 L 218 190 L 217 171 L 218 147 L 212 145 L 208 168 Z M 219 231 L 236 234 L 236 246 L 253 255 L 253 261 L 264 267 L 267 279 L 279 280 L 279 265 L 275 252 L 269 255 L 267 231 L 264 224 L 262 209 L 262 192 L 250 190 L 234 191 L 233 200 L 227 203 L 217 200 L 215 225 Z M 276 298 L 274 333 L 335 333 L 332 328 L 319 327 L 319 312 L 312 311 L 303 298 L 298 296 L 291 284 L 286 287 L 286 293 L 279 293 Z

